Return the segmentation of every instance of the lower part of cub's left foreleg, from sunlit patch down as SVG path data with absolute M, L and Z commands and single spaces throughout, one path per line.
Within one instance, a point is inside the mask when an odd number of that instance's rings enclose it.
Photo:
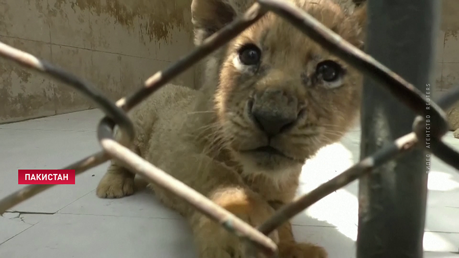
M 243 188 L 217 189 L 208 198 L 253 227 L 261 225 L 274 213 L 266 201 Z M 245 243 L 218 223 L 199 212 L 193 212 L 189 221 L 199 258 L 245 257 Z M 276 244 L 279 242 L 277 231 L 274 231 L 269 237 Z

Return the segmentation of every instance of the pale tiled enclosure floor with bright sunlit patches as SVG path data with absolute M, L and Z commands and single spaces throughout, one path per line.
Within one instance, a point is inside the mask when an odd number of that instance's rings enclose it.
M 17 169 L 61 168 L 100 149 L 98 110 L 0 125 L 0 198 L 21 188 Z M 323 148 L 304 165 L 299 194 L 359 159 L 358 129 Z M 446 141 L 459 149 L 459 139 Z M 335 157 L 335 158 L 332 158 Z M 0 217 L 0 257 L 193 258 L 190 230 L 146 189 L 121 199 L 99 199 L 94 189 L 108 163 L 25 201 Z M 421 173 L 421 172 L 420 172 Z M 433 159 L 429 174 L 425 257 L 459 257 L 459 173 Z M 322 199 L 294 220 L 299 241 L 323 245 L 330 258 L 355 257 L 356 182 Z

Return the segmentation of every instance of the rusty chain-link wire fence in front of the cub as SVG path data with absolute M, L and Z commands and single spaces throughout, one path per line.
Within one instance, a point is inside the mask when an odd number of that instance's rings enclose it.
M 403 104 L 418 116 L 413 123 L 413 132 L 396 139 L 389 146 L 379 149 L 372 156 L 361 159 L 359 163 L 330 179 L 310 193 L 285 205 L 256 229 L 127 149 L 125 146 L 133 139 L 134 128 L 132 121 L 126 116 L 126 112 L 138 105 L 139 102 L 154 93 L 161 86 L 171 81 L 175 76 L 184 72 L 199 60 L 205 58 L 214 50 L 236 37 L 267 12 L 274 12 L 282 16 L 306 36 L 328 49 L 332 54 L 360 69 L 364 75 L 369 76 L 369 78 L 378 82 L 379 85 L 384 86 L 393 97 L 403 102 Z M 68 84 L 90 98 L 105 112 L 106 116 L 100 120 L 97 127 L 97 136 L 101 147 L 103 147 L 103 151 L 94 153 L 63 169 L 74 169 L 75 174 L 80 174 L 110 159 L 119 160 L 127 168 L 130 168 L 131 171 L 143 175 L 152 182 L 180 196 L 197 210 L 220 223 L 227 230 L 247 240 L 250 247 L 259 248 L 261 252 L 269 257 L 276 255 L 277 246 L 266 235 L 278 226 L 328 194 L 368 174 L 373 169 L 400 156 L 400 154 L 416 147 L 424 148 L 424 146 L 420 146 L 419 139 L 425 138 L 426 119 L 430 121 L 431 142 L 431 148 L 427 151 L 432 152 L 445 163 L 459 169 L 459 153 L 441 140 L 448 132 L 448 123 L 443 110 L 451 107 L 459 99 L 459 88 L 451 90 L 448 95 L 445 95 L 438 101 L 438 104 L 432 101 L 429 101 L 427 104 L 428 100 L 426 100 L 426 96 L 413 85 L 406 82 L 399 75 L 369 55 L 366 55 L 362 50 L 343 40 L 339 35 L 326 28 L 307 12 L 283 0 L 258 0 L 243 15 L 206 39 L 189 55 L 178 60 L 164 71 L 159 71 L 152 75 L 146 80 L 144 87 L 130 96 L 119 99 L 116 103 L 110 101 L 93 85 L 78 78 L 78 76 L 2 42 L 0 42 L 0 56 L 22 66 L 50 75 L 52 78 Z M 426 108 L 426 104 L 429 108 Z M 122 132 L 123 137 L 120 142 L 115 141 L 113 137 L 113 128 L 115 125 L 118 125 Z M 0 200 L 0 214 L 53 186 L 31 185 L 8 195 Z M 248 250 L 250 251 L 249 257 L 253 257 L 255 249 L 248 248 Z

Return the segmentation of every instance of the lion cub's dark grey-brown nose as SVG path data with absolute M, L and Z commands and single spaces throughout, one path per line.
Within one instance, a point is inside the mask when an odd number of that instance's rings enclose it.
M 249 101 L 253 122 L 268 136 L 275 136 L 290 128 L 298 118 L 297 98 L 281 90 L 267 90 Z

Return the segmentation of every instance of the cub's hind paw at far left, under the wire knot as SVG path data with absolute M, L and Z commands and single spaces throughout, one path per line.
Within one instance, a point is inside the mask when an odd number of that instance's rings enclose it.
M 115 133 L 115 139 L 119 140 L 119 130 Z M 139 154 L 135 144 L 130 149 Z M 100 179 L 96 194 L 100 198 L 121 198 L 134 193 L 135 174 L 124 168 L 118 161 L 112 160 L 105 175 Z

